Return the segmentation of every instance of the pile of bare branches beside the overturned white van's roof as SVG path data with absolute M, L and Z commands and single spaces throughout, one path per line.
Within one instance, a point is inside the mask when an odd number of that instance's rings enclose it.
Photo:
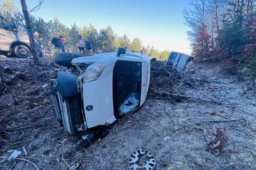
M 152 98 L 181 101 L 188 98 L 185 96 L 187 89 L 197 89 L 209 83 L 209 79 L 195 72 L 164 65 L 162 61 L 151 62 L 149 96 Z

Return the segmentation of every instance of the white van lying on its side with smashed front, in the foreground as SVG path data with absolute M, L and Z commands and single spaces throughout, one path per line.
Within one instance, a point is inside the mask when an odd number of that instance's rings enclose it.
M 135 52 L 109 51 L 83 56 L 55 55 L 68 67 L 51 79 L 51 96 L 58 122 L 67 133 L 80 133 L 78 145 L 107 135 L 105 127 L 143 105 L 150 79 L 150 58 Z

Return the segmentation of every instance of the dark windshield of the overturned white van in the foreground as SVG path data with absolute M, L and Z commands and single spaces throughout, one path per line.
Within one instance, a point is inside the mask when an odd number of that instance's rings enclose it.
M 121 118 L 140 106 L 142 63 L 119 60 L 114 67 L 114 116 Z

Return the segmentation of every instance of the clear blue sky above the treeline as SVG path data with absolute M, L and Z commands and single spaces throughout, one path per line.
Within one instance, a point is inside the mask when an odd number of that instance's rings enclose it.
M 20 0 L 12 1 L 21 9 Z M 38 4 L 36 0 L 26 2 L 30 9 Z M 190 54 L 184 8 L 190 8 L 188 0 L 44 0 L 41 9 L 32 14 L 45 21 L 57 16 L 66 26 L 92 23 L 100 30 L 109 25 L 119 36 L 140 38 L 144 46 Z

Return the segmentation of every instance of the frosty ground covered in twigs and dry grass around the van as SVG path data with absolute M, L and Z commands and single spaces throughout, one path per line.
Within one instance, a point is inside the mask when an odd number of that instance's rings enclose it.
M 1 157 L 16 149 L 19 158 L 39 169 L 69 169 L 76 163 L 77 169 L 129 169 L 130 154 L 147 149 L 157 170 L 256 169 L 255 77 L 224 74 L 218 65 L 190 65 L 188 77 L 206 81 L 177 85 L 172 91 L 193 98 L 175 98 L 155 94 L 161 75 L 153 69 L 143 106 L 109 125 L 107 137 L 81 148 L 78 137 L 59 126 L 49 94 L 49 80 L 64 68 L 41 61 L 36 66 L 31 59 L 0 58 L 7 86 L 0 98 Z M 163 87 L 159 91 L 167 93 Z M 35 166 L 1 158 L 0 169 Z

